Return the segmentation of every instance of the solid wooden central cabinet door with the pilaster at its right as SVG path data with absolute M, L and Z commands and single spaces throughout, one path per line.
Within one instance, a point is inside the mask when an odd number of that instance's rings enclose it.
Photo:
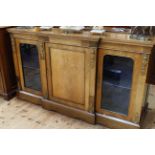
M 87 111 L 94 110 L 95 66 L 91 68 L 90 63 L 95 65 L 95 59 L 91 62 L 95 54 L 89 48 L 46 44 L 51 100 Z

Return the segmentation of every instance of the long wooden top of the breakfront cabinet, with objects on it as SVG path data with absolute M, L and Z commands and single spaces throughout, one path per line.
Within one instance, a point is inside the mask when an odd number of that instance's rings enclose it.
M 34 29 L 19 29 L 19 28 L 9 28 L 8 32 L 15 34 L 31 34 L 37 36 L 49 36 L 49 37 L 61 37 L 67 39 L 76 39 L 76 40 L 88 40 L 88 41 L 98 41 L 101 40 L 101 43 L 110 42 L 110 43 L 121 43 L 137 46 L 146 46 L 153 47 L 153 40 L 144 41 L 131 39 L 129 33 L 116 33 L 116 32 L 105 32 L 103 34 L 92 34 L 89 31 L 83 30 L 80 33 L 64 33 L 58 28 L 53 28 L 51 31 L 35 31 Z

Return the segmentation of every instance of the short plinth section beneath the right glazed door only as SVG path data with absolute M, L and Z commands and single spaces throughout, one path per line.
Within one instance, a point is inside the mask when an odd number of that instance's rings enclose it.
M 113 129 L 139 129 L 140 125 L 119 118 L 96 114 L 96 123 Z

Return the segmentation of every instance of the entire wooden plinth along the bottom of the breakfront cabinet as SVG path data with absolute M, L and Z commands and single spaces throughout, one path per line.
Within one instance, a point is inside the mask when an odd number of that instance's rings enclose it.
M 96 114 L 89 113 L 84 110 L 76 109 L 73 107 L 63 105 L 58 102 L 44 99 L 41 96 L 37 96 L 37 95 L 31 94 L 25 91 L 19 91 L 17 95 L 20 99 L 32 102 L 37 105 L 41 105 L 44 109 L 56 111 L 64 115 L 71 116 L 73 118 L 84 120 L 91 124 L 95 124 L 95 123 L 102 124 L 106 127 L 114 128 L 114 129 L 138 129 L 140 128 L 140 125 L 136 123 L 132 123 L 126 120 L 122 120 L 119 118 L 115 118 L 112 116 L 107 116 L 107 115 L 103 115 L 99 113 L 96 113 Z

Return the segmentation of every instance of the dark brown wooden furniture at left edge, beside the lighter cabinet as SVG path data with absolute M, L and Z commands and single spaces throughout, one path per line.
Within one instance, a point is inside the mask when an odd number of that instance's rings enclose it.
M 0 27 L 0 95 L 9 100 L 16 92 L 11 40 L 7 27 Z

